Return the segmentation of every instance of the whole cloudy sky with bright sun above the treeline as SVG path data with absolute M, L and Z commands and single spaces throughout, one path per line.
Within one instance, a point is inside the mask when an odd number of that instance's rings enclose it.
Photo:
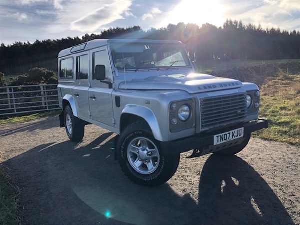
M 300 0 L 0 0 L 0 43 L 80 37 L 117 26 L 219 27 L 227 18 L 298 31 Z

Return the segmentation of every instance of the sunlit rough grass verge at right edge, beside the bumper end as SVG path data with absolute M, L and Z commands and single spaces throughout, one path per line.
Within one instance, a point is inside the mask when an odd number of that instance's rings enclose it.
M 252 136 L 300 145 L 300 74 L 279 71 L 260 90 L 260 116 L 268 119 L 269 128 Z

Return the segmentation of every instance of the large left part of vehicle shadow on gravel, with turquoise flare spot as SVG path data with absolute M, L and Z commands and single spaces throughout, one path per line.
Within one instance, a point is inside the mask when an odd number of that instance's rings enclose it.
M 191 224 L 189 209 L 197 207 L 168 184 L 126 178 L 111 132 L 87 145 L 41 144 L 3 164 L 20 188 L 23 224 Z

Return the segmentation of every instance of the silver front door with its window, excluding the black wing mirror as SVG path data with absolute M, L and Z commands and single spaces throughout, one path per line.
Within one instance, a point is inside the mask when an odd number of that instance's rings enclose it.
M 91 112 L 91 119 L 114 126 L 112 122 L 112 85 L 113 82 L 112 69 L 108 56 L 107 47 L 101 47 L 90 51 L 92 57 L 91 65 L 92 77 L 90 77 L 90 88 L 88 89 L 88 99 Z M 95 79 L 96 65 L 105 65 L 106 80 L 105 83 Z

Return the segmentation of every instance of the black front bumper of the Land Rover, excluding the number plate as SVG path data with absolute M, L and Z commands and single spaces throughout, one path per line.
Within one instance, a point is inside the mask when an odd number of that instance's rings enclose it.
M 227 132 L 236 128 L 244 127 L 244 136 L 250 134 L 251 132 L 257 131 L 259 129 L 265 129 L 268 127 L 267 119 L 259 119 L 255 122 L 249 122 L 243 125 L 234 126 L 226 129 L 217 130 L 214 132 L 209 132 L 205 134 L 197 134 L 194 136 L 186 137 L 174 141 L 161 142 L 161 151 L 163 154 L 174 155 L 180 154 L 185 151 L 199 148 L 209 148 L 213 146 L 213 136 L 219 133 Z M 240 138 L 243 139 L 243 138 Z M 212 149 L 212 148 L 211 148 Z M 208 152 L 209 153 L 209 152 Z

